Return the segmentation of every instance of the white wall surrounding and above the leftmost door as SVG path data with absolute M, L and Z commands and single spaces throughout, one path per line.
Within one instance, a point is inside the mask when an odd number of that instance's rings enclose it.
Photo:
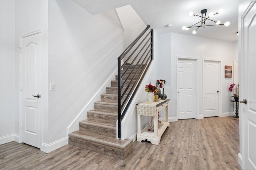
M 48 1 L 15 1 L 15 47 L 20 46 L 20 35 L 42 29 L 43 45 L 43 134 L 42 142 L 48 143 Z M 19 134 L 19 72 L 20 50 L 15 48 L 15 123 L 14 132 Z M 21 141 L 20 141 L 21 142 Z

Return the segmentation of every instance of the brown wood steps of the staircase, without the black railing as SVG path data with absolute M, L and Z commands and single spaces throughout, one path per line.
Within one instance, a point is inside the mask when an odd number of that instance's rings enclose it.
M 124 66 L 122 72 L 125 72 L 127 68 L 128 65 Z M 127 70 L 123 80 L 127 78 L 132 69 L 134 68 L 131 66 Z M 138 76 L 140 75 L 136 75 L 135 79 Z M 128 77 L 124 87 L 127 87 L 130 81 L 131 78 Z M 127 94 L 129 90 L 130 88 L 128 88 Z M 116 80 L 111 81 L 111 87 L 106 87 L 106 94 L 101 94 L 101 100 L 94 102 L 94 110 L 87 112 L 87 120 L 80 121 L 79 130 L 68 135 L 68 143 L 115 158 L 125 159 L 132 152 L 132 139 L 116 139 L 117 103 L 118 79 L 116 75 Z

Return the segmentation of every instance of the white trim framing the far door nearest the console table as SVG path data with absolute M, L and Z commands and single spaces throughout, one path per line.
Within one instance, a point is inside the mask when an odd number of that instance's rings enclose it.
M 199 79 L 198 79 L 198 58 L 196 58 L 196 57 L 185 57 L 185 56 L 176 56 L 176 99 L 178 99 L 178 88 L 177 88 L 177 77 L 178 77 L 178 59 L 185 59 L 185 60 L 194 60 L 195 62 L 196 62 L 196 64 L 195 64 L 195 74 L 196 74 L 196 84 L 195 84 L 195 86 L 196 86 L 196 88 L 195 88 L 195 90 L 196 90 L 196 95 L 195 95 L 195 98 L 196 98 L 196 108 L 195 108 L 195 112 L 196 112 L 196 115 L 195 115 L 195 117 L 196 117 L 196 119 L 202 119 L 202 118 L 204 118 L 204 117 L 201 117 L 200 116 L 200 113 L 199 113 L 199 111 L 198 111 L 198 108 L 199 108 L 199 103 L 200 102 L 198 102 L 198 92 L 199 92 L 199 86 L 198 86 L 198 84 L 199 84 Z M 176 102 L 176 117 L 178 118 L 178 102 Z

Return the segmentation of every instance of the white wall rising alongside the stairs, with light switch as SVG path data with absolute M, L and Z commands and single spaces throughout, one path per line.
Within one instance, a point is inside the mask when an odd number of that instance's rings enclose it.
M 49 91 L 49 143 L 54 143 L 67 139 L 68 126 L 116 70 L 123 30 L 114 10 L 93 16 L 72 0 L 48 3 L 49 84 L 56 84 Z

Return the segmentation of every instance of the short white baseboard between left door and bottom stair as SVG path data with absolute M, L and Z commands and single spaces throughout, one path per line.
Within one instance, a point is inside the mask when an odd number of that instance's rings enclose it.
M 65 145 L 68 145 L 68 137 L 65 137 L 50 144 L 42 143 L 41 150 L 43 152 L 49 153 Z

